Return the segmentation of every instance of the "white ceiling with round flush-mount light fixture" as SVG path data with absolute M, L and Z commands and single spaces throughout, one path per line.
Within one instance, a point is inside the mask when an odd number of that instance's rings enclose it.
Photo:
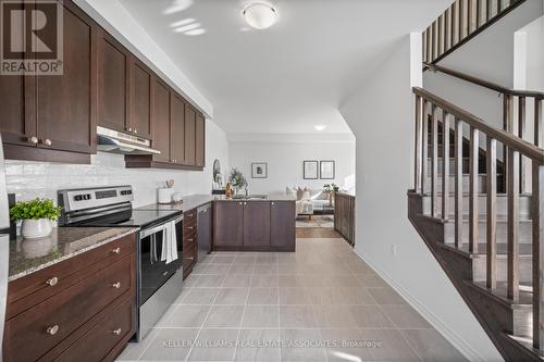
M 248 29 L 239 0 L 119 0 L 214 107 L 227 133 L 350 133 L 337 111 L 390 53 L 452 0 L 276 0 Z M 194 18 L 206 30 L 176 33 Z

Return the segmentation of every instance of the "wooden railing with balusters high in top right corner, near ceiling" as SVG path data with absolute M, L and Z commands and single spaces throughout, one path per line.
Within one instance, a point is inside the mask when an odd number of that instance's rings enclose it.
M 423 32 L 423 61 L 436 63 L 526 0 L 456 0 Z

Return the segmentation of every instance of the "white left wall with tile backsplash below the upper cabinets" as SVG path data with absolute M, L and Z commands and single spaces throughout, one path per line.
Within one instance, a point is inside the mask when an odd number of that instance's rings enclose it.
M 47 197 L 55 199 L 57 190 L 94 186 L 132 185 L 136 207 L 157 201 L 157 187 L 173 178 L 174 189 L 183 195 L 210 194 L 213 160 L 219 159 L 222 170 L 228 170 L 228 142 L 225 133 L 207 121 L 206 167 L 198 171 L 125 168 L 123 155 L 98 152 L 92 164 L 75 165 L 49 162 L 7 160 L 8 192 L 17 199 Z

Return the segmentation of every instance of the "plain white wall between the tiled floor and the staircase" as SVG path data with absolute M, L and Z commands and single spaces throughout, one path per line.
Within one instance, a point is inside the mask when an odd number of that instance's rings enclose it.
M 406 36 L 339 111 L 357 139 L 356 251 L 472 361 L 500 361 L 407 217 L 421 34 Z M 410 48 L 413 50 L 410 51 Z M 393 253 L 393 248 L 396 253 Z

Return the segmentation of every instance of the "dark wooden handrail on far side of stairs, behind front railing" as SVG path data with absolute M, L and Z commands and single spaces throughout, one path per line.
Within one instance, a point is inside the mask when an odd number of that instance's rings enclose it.
M 527 108 L 533 107 L 534 114 L 542 114 L 542 101 L 544 92 L 533 90 L 518 90 L 503 87 L 496 83 L 492 83 L 466 73 L 461 73 L 445 66 L 423 63 L 423 67 L 435 73 L 447 74 L 449 76 L 462 79 L 477 86 L 498 92 L 503 98 L 503 129 L 509 132 L 519 138 L 531 139 L 533 145 L 542 146 L 542 123 L 535 122 L 533 134 L 527 135 Z M 506 148 L 503 149 L 503 154 L 506 153 Z M 520 157 L 521 158 L 521 157 Z M 507 163 L 508 160 L 505 160 Z M 524 176 L 526 163 L 520 159 L 520 192 L 526 192 Z

